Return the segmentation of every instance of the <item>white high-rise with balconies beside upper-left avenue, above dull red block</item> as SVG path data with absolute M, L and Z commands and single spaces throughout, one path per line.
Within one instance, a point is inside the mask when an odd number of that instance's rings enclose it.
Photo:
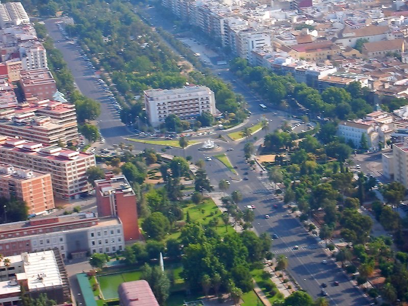
M 45 69 L 47 64 L 47 52 L 42 43 L 35 41 L 21 43 L 19 46 L 21 69 Z

